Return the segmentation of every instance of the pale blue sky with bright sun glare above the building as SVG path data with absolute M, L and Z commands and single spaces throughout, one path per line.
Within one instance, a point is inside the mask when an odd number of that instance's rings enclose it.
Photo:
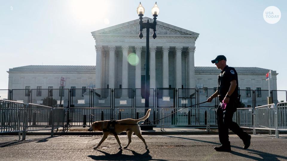
M 144 17 L 155 1 L 142 0 Z M 134 0 L 0 0 L 0 89 L 8 89 L 9 68 L 26 65 L 96 65 L 92 31 L 138 19 Z M 229 66 L 275 70 L 277 89 L 287 90 L 287 1 L 158 0 L 158 21 L 199 33 L 195 66 L 214 66 L 225 55 Z M 281 11 L 268 24 L 268 6 Z M 264 76 L 263 76 L 264 77 Z

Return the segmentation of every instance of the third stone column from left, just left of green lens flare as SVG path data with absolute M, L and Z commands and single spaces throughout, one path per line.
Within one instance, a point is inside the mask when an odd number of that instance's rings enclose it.
M 122 64 L 122 88 L 128 88 L 128 51 L 129 46 L 122 46 L 123 51 L 123 64 Z M 123 90 L 122 97 L 127 97 L 127 90 Z

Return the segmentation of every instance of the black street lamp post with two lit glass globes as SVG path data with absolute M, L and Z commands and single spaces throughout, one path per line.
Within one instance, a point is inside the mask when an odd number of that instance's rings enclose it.
M 153 22 L 149 23 L 149 20 L 147 22 L 143 22 L 143 16 L 144 16 L 144 7 L 142 6 L 141 2 L 138 5 L 137 8 L 137 13 L 138 16 L 140 17 L 140 34 L 138 37 L 142 39 L 143 36 L 143 29 L 146 29 L 146 70 L 145 70 L 145 108 L 149 108 L 149 29 L 153 30 L 152 38 L 156 38 L 155 34 L 155 26 L 156 26 L 156 17 L 158 16 L 159 13 L 159 8 L 158 5 L 155 2 L 155 5 L 152 7 L 152 16 L 153 16 Z

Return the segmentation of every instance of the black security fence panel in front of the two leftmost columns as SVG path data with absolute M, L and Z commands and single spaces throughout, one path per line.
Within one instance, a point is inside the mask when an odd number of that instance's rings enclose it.
M 113 90 L 112 89 L 92 89 L 93 105 L 92 107 L 112 108 Z

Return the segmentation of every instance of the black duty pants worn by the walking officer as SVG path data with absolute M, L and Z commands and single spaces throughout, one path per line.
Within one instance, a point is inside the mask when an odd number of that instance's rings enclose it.
M 230 146 L 230 142 L 228 140 L 228 129 L 238 135 L 240 139 L 246 140 L 248 134 L 244 132 L 237 123 L 232 121 L 234 103 L 227 103 L 225 109 L 222 109 L 220 105 L 221 104 L 219 104 L 216 110 L 220 143 L 224 146 Z

